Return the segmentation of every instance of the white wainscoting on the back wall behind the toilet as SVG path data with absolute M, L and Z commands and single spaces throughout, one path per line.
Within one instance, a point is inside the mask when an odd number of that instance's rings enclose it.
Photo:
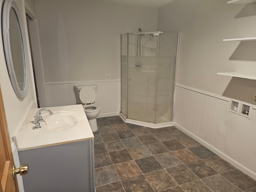
M 76 104 L 74 85 L 96 84 L 95 104 L 100 106 L 98 117 L 115 116 L 120 112 L 120 80 L 96 82 L 48 82 L 46 83 L 47 107 Z

